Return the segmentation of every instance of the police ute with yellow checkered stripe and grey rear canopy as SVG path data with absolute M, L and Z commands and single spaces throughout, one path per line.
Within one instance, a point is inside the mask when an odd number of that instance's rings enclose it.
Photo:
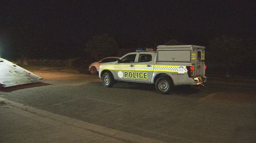
M 206 82 L 205 47 L 196 45 L 159 45 L 157 51 L 127 53 L 118 61 L 99 67 L 105 87 L 116 81 L 155 84 L 167 94 L 175 85 L 203 85 Z

